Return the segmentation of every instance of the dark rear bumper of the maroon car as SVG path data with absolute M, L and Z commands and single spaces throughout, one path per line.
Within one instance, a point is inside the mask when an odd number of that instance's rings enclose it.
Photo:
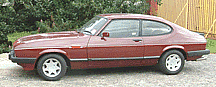
M 202 55 L 210 54 L 210 50 L 206 49 L 206 50 L 188 51 L 187 54 L 188 54 L 188 57 L 202 56 Z

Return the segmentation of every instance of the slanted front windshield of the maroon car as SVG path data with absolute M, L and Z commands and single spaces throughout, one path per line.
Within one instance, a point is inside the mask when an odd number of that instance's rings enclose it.
M 90 21 L 88 21 L 86 24 L 84 24 L 78 32 L 81 32 L 83 34 L 87 35 L 94 35 L 103 25 L 107 22 L 106 18 L 96 16 L 92 18 Z

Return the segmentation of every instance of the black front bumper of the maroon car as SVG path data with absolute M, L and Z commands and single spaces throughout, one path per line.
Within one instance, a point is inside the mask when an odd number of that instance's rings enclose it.
M 9 60 L 11 60 L 14 63 L 35 63 L 37 58 L 21 58 L 21 57 L 16 57 L 15 52 L 12 49 L 10 54 L 9 54 Z

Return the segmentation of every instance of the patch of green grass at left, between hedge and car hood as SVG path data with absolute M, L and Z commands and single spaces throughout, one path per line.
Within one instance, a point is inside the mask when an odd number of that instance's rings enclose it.
M 23 36 L 28 36 L 31 35 L 31 32 L 15 32 L 12 34 L 8 34 L 8 41 L 12 41 L 12 43 L 14 43 L 18 38 L 23 37 Z

